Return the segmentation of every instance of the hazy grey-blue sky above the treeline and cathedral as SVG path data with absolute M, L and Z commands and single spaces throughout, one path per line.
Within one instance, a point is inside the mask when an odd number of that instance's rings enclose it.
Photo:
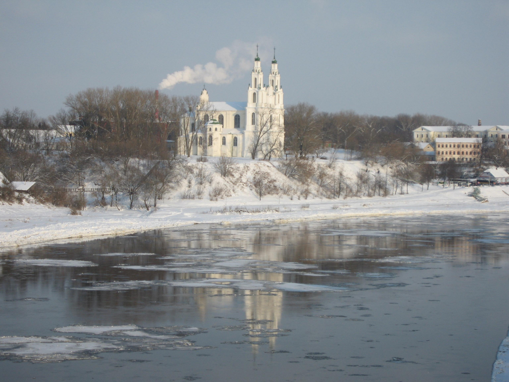
M 509 125 L 508 25 L 509 0 L 0 1 L 0 109 L 45 117 L 68 94 L 155 90 L 185 66 L 196 83 L 162 92 L 208 81 L 211 101 L 244 101 L 259 43 L 266 78 L 276 46 L 287 105 Z

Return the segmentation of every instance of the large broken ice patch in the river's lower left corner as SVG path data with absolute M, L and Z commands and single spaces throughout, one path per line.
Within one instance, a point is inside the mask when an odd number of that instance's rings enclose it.
M 0 359 L 30 362 L 62 362 L 99 358 L 101 352 L 165 350 L 199 350 L 183 337 L 202 333 L 199 328 L 164 326 L 140 328 L 137 325 L 85 326 L 71 325 L 53 330 L 97 337 L 0 337 Z

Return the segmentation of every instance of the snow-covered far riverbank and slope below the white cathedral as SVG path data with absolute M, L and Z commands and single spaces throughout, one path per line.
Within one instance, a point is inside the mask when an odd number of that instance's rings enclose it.
M 325 165 L 326 161 L 322 162 Z M 200 165 L 192 163 L 193 166 Z M 350 179 L 354 179 L 356 171 L 366 169 L 362 161 L 355 160 L 339 160 L 337 165 Z M 211 161 L 204 163 L 204 166 L 208 167 L 210 174 L 213 173 Z M 378 169 L 385 172 L 384 168 Z M 249 186 L 249 174 L 255 171 L 269 174 L 278 184 L 287 182 L 295 189 L 295 193 L 293 196 L 283 193 L 267 195 L 259 200 Z M 378 170 L 377 167 L 370 167 L 369 171 L 375 173 Z M 239 160 L 237 175 L 224 180 L 216 173 L 212 178 L 210 181 L 209 176 L 203 199 L 181 199 L 183 190 L 196 190 L 200 187 L 194 175 L 192 184 L 183 181 L 180 189 L 159 201 L 158 208 L 151 211 L 140 208 L 119 210 L 116 207 L 88 207 L 81 211 L 81 215 L 71 215 L 68 208 L 35 203 L 0 204 L 0 249 L 59 239 L 82 240 L 98 235 L 122 235 L 199 223 L 285 222 L 429 213 L 443 214 L 444 219 L 459 218 L 460 222 L 467 213 L 509 211 L 509 186 L 481 187 L 482 195 L 488 199 L 485 203 L 468 196 L 471 187 L 453 189 L 430 185 L 427 190 L 426 185 L 422 187 L 419 184 L 410 184 L 408 194 L 404 195 L 326 199 L 313 192 L 305 199 L 299 192 L 302 184 L 286 178 L 276 170 L 272 162 L 245 159 Z M 228 183 L 230 196 L 211 201 L 209 190 L 212 184 L 218 182 Z M 230 207 L 239 207 L 244 212 L 224 212 Z

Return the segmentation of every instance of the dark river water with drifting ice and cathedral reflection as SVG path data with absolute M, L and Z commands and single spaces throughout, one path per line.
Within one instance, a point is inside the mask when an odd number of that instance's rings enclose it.
M 0 375 L 489 381 L 509 325 L 508 222 L 197 225 L 5 252 Z

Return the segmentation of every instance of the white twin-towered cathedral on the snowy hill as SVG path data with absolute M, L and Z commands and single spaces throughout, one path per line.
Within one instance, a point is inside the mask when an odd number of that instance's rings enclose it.
M 274 52 L 268 84 L 258 52 L 254 58 L 247 102 L 210 102 L 204 88 L 200 103 L 180 121 L 182 154 L 280 157 L 284 150 L 285 108 Z

